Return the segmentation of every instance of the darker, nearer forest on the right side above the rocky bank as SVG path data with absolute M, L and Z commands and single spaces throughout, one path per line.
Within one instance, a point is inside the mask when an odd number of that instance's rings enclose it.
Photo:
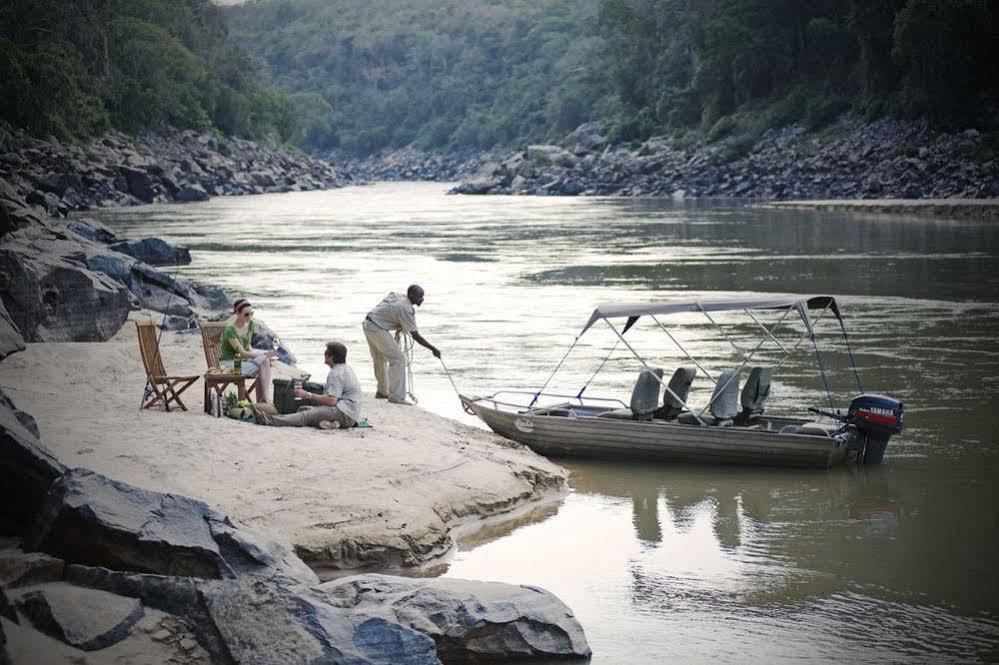
M 994 122 L 994 0 L 603 0 L 600 18 L 620 138 L 722 133 L 754 109 L 762 126 L 817 127 L 848 109 Z

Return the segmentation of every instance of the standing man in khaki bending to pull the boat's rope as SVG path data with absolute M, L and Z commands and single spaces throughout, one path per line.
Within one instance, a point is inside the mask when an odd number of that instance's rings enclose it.
M 420 346 L 430 349 L 435 358 L 441 357 L 436 346 L 423 338 L 416 330 L 416 309 L 423 304 L 423 289 L 413 284 L 406 289 L 406 295 L 390 293 L 364 317 L 361 327 L 371 349 L 371 359 L 375 363 L 375 379 L 378 389 L 375 397 L 393 404 L 412 404 L 406 400 L 406 357 L 399 348 L 392 333 L 401 330 L 409 333 Z

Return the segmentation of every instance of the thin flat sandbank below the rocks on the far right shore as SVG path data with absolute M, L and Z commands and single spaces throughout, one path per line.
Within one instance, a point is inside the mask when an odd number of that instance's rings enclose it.
M 919 217 L 999 222 L 999 199 L 829 199 L 775 201 L 759 204 L 759 207 L 914 215 Z

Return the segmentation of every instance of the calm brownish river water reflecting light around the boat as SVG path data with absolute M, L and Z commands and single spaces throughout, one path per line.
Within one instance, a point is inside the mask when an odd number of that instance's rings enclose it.
M 565 500 L 470 535 L 423 572 L 555 592 L 581 620 L 593 663 L 999 662 L 999 228 L 445 191 L 391 183 L 93 216 L 187 245 L 193 262 L 177 272 L 250 298 L 317 377 L 325 340 L 344 340 L 367 390 L 360 322 L 411 282 L 427 292 L 420 331 L 475 394 L 539 388 L 597 303 L 834 294 L 864 389 L 906 405 L 883 465 L 560 460 L 572 473 Z M 706 366 L 731 363 L 729 341 L 703 317 L 668 323 Z M 825 330 L 842 406 L 856 385 Z M 729 329 L 749 348 L 759 332 Z M 587 333 L 549 389 L 575 394 L 613 339 Z M 629 340 L 667 374 L 682 363 L 655 326 Z M 814 353 L 799 351 L 776 373 L 768 411 L 827 405 Z M 614 350 L 587 394 L 627 400 L 639 369 L 629 356 Z M 421 406 L 474 423 L 419 347 L 414 371 Z M 692 403 L 707 401 L 704 383 Z

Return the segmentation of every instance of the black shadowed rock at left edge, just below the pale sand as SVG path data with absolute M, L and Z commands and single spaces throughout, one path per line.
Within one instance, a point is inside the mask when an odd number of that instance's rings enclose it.
M 24 427 L 10 400 L 0 398 L 0 533 L 22 534 L 66 469 Z

